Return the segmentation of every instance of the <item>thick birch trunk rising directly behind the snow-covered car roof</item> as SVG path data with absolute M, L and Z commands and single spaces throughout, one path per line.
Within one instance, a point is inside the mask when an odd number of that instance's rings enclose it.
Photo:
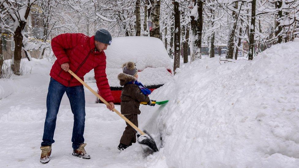
M 152 30 L 149 31 L 151 37 L 156 37 L 162 40 L 160 35 L 160 0 L 154 0 L 152 3 L 153 12 L 151 13 L 152 18 Z

